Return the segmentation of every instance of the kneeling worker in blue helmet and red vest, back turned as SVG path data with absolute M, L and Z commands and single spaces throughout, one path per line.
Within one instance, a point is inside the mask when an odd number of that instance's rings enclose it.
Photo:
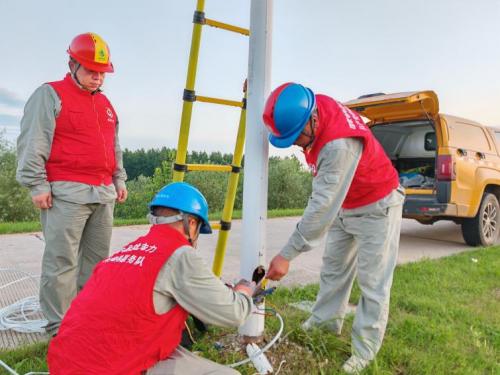
M 197 254 L 211 233 L 208 206 L 175 182 L 150 203 L 145 236 L 100 262 L 72 302 L 48 351 L 51 374 L 238 374 L 179 346 L 188 313 L 237 327 L 255 285 L 224 285 Z

